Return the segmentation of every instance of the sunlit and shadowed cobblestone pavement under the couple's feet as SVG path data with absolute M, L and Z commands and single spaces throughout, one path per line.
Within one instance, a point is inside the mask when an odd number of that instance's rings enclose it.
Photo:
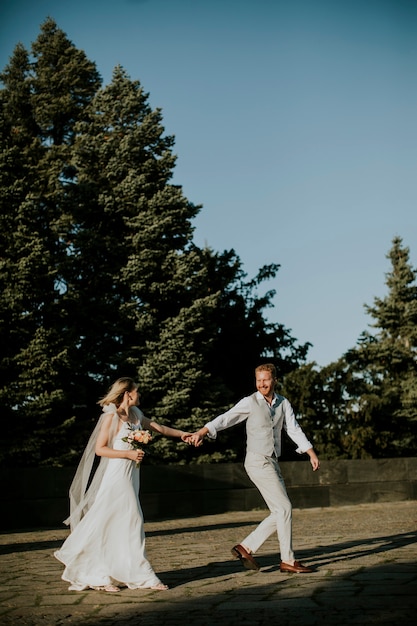
M 0 625 L 386 626 L 417 612 L 417 501 L 294 510 L 296 556 L 281 574 L 271 537 L 247 571 L 231 547 L 267 515 L 248 511 L 148 522 L 150 562 L 168 591 L 70 592 L 52 552 L 67 529 L 0 535 Z

